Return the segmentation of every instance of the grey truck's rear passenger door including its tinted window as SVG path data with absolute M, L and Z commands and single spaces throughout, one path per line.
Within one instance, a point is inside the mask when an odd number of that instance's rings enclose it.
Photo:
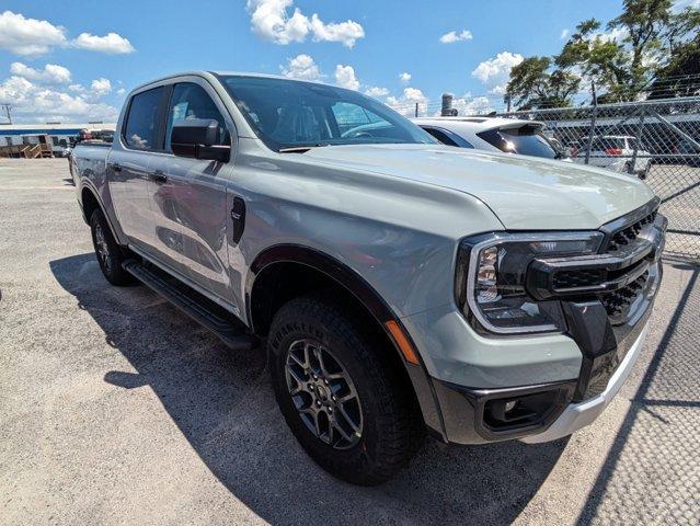
M 152 152 L 159 149 L 165 89 L 136 93 L 122 123 L 107 163 L 107 180 L 114 211 L 124 233 L 135 247 L 150 252 L 151 210 L 146 198 Z

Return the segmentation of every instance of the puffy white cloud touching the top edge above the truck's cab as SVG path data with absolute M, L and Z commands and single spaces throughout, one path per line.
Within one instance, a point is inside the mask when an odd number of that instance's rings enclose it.
M 353 47 L 365 36 L 363 26 L 352 20 L 325 23 L 315 13 L 309 19 L 299 8 L 295 8 L 289 16 L 287 9 L 292 5 L 294 0 L 248 0 L 253 33 L 283 46 L 303 42 L 311 34 L 314 42 L 340 42 Z

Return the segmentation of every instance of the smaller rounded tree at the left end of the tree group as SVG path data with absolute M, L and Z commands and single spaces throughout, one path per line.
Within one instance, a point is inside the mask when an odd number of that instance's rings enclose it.
M 571 105 L 581 79 L 562 69 L 550 71 L 549 57 L 528 57 L 510 70 L 507 93 L 519 110 Z

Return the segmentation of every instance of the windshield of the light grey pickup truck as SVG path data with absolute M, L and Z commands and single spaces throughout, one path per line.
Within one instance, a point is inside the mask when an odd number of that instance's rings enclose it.
M 436 142 L 409 119 L 356 91 L 264 77 L 219 78 L 249 124 L 273 150 Z

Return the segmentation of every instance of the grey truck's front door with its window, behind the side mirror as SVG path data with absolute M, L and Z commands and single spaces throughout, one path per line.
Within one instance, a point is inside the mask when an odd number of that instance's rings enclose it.
M 172 88 L 165 116 L 164 148 L 170 151 L 173 124 L 191 118 L 214 119 L 219 123 L 220 144 L 231 144 L 233 125 L 218 95 L 204 79 L 188 78 Z M 230 302 L 232 298 L 229 278 L 227 247 L 227 199 L 231 186 L 232 163 L 190 159 L 168 155 L 159 169 L 167 178 L 151 188 L 157 229 L 180 227 L 181 261 L 187 277 L 207 293 Z M 167 188 L 167 192 L 162 192 Z M 162 195 L 159 193 L 162 192 Z

